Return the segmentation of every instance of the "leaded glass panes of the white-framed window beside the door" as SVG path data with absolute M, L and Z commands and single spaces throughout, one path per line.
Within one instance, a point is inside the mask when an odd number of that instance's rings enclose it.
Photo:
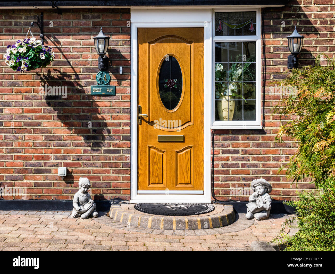
M 215 35 L 256 35 L 256 23 L 255 11 L 215 12 Z M 256 120 L 257 39 L 236 38 L 214 42 L 215 121 Z

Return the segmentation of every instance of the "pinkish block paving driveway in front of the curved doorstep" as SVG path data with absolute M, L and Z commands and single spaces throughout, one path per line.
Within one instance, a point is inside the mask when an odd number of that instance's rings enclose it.
M 232 225 L 240 231 L 215 234 L 211 229 L 137 232 L 137 227 L 120 228 L 106 213 L 89 219 L 73 219 L 70 213 L 0 211 L 0 250 L 250 250 L 253 241 L 271 241 L 290 216 L 271 214 L 253 222 L 239 214 Z

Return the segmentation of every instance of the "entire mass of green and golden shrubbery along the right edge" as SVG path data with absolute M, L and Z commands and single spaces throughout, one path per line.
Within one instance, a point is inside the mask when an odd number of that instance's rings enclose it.
M 285 250 L 335 250 L 335 60 L 327 56 L 328 65 L 294 69 L 282 82 L 295 91 L 281 99 L 274 113 L 287 119 L 277 134 L 298 142 L 295 155 L 285 168 L 293 182 L 308 179 L 316 190 L 302 193 L 297 201 L 296 216 L 283 223 L 277 236 L 284 239 Z M 285 227 L 297 220 L 299 231 L 293 237 L 284 235 Z

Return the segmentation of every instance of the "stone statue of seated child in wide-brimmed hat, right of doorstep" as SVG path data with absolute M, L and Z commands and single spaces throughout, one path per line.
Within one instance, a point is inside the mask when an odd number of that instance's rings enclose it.
M 264 220 L 269 217 L 271 210 L 271 185 L 265 179 L 256 179 L 251 183 L 254 193 L 249 197 L 247 204 L 247 219 Z

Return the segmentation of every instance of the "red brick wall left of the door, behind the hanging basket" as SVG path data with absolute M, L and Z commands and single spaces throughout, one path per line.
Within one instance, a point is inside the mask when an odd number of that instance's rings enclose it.
M 26 187 L 26 199 L 72 199 L 79 177 L 85 176 L 94 199 L 129 199 L 130 10 L 44 11 L 53 66 L 13 72 L 3 54 L 8 44 L 23 40 L 38 14 L 36 9 L 0 10 L 0 182 Z M 90 95 L 98 72 L 92 37 L 100 26 L 112 36 L 109 72 L 116 96 Z M 38 27 L 32 31 L 39 36 Z M 66 87 L 67 97 L 42 97 L 45 85 Z M 57 175 L 61 166 L 68 171 L 64 180 Z M 7 194 L 4 199 L 22 198 Z

